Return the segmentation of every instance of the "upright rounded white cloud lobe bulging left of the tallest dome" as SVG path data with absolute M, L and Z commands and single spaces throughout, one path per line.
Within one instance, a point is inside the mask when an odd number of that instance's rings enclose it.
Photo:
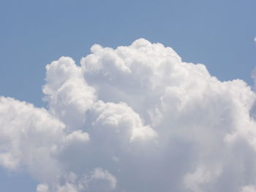
M 49 110 L 68 128 L 82 126 L 85 112 L 94 102 L 94 88 L 83 79 L 80 67 L 72 58 L 61 57 L 46 66 L 46 84 L 43 87 Z

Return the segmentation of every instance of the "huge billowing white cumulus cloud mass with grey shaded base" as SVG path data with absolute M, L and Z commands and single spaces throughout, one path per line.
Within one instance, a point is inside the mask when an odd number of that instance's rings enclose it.
M 255 92 L 138 39 L 46 66 L 47 109 L 0 97 L 0 164 L 49 191 L 256 191 Z

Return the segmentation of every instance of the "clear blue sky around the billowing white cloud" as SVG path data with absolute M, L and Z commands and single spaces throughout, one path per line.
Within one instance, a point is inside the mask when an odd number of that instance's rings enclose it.
M 62 55 L 79 62 L 95 43 L 117 47 L 140 37 L 205 64 L 219 80 L 252 85 L 255 9 L 255 0 L 2 0 L 0 95 L 45 106 L 46 64 Z M 0 183 L 5 191 L 35 188 L 28 176 L 3 170 Z

